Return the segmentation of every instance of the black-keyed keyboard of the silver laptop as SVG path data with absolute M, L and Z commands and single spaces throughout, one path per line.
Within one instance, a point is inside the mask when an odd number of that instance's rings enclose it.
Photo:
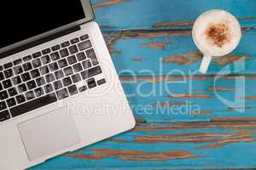
M 106 83 L 99 74 L 87 34 L 0 65 L 0 122 Z

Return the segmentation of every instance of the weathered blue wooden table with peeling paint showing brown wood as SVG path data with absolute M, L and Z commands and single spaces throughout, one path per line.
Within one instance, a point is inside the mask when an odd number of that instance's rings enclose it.
M 256 167 L 256 1 L 92 2 L 137 127 L 32 169 Z M 243 35 L 201 75 L 191 26 L 212 8 L 236 15 Z

